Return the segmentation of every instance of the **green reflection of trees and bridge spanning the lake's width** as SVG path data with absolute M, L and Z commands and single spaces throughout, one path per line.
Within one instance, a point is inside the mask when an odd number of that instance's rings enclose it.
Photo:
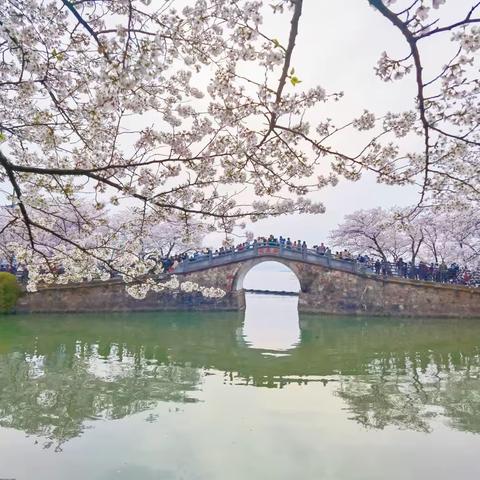
M 0 425 L 45 448 L 158 402 L 195 402 L 204 375 L 282 387 L 335 381 L 367 428 L 480 433 L 480 323 L 301 316 L 301 340 L 275 358 L 240 341 L 236 313 L 35 316 L 0 320 Z M 155 417 L 147 418 L 155 421 Z

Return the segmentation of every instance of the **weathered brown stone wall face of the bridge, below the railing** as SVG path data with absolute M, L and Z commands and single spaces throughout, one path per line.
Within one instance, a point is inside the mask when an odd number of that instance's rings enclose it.
M 258 263 L 278 261 L 287 265 L 301 285 L 302 312 L 396 315 L 418 317 L 479 317 L 480 290 L 395 278 L 381 278 L 335 270 L 307 262 L 264 256 L 228 265 L 179 274 L 190 281 L 221 288 L 220 299 L 182 291 L 150 292 L 144 300 L 130 297 L 116 280 L 45 288 L 25 295 L 20 312 L 91 312 L 138 310 L 239 310 L 245 306 L 243 279 Z M 260 286 L 268 290 L 268 285 Z

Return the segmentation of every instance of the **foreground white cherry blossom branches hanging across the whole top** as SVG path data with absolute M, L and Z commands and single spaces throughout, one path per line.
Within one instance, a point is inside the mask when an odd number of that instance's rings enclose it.
M 377 74 L 415 75 L 416 104 L 336 125 L 317 107 L 342 92 L 304 89 L 295 71 L 302 0 L 0 0 L 8 249 L 31 271 L 62 264 L 78 280 L 103 264 L 134 279 L 152 269 L 139 252 L 153 225 L 230 234 L 238 220 L 322 213 L 311 194 L 338 176 L 418 183 L 419 204 L 477 201 L 478 4 L 444 25 L 438 0 L 369 3 L 407 49 L 382 55 Z M 263 31 L 266 14 L 287 19 L 277 38 Z M 427 78 L 422 45 L 445 35 L 457 53 Z M 355 132 L 358 151 L 331 146 Z M 406 150 L 409 137 L 424 147 Z M 137 221 L 111 224 L 127 208 Z M 75 235 L 59 215 L 82 216 Z M 45 236 L 58 241 L 55 258 Z

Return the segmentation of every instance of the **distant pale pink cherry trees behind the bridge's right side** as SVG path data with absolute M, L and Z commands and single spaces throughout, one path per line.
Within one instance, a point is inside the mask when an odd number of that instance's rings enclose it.
M 440 264 L 480 266 L 480 212 L 423 209 L 413 218 L 413 207 L 359 210 L 345 216 L 330 238 L 335 246 L 355 254 L 369 254 L 396 262 L 400 257 Z

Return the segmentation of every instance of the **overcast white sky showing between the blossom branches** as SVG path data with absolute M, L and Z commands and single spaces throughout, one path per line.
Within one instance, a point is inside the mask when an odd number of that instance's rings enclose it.
M 450 0 L 438 12 L 442 18 L 459 19 L 471 4 L 468 0 Z M 400 7 L 402 1 L 395 5 Z M 277 30 L 285 30 L 285 26 L 278 23 L 278 16 L 266 18 L 265 26 L 277 38 L 281 38 Z M 427 65 L 445 64 L 445 51 L 450 48 L 449 34 L 444 43 L 425 46 L 428 47 Z M 301 78 L 302 87 L 321 85 L 327 92 L 345 92 L 338 104 L 326 104 L 331 111 L 322 112 L 325 117 L 349 121 L 364 108 L 379 115 L 413 108 L 416 86 L 412 75 L 388 84 L 376 77 L 374 66 L 383 51 L 396 58 L 408 54 L 400 33 L 370 7 L 367 0 L 304 1 L 293 58 L 295 73 Z M 345 136 L 342 140 L 349 141 Z M 348 145 L 342 147 L 345 149 Z M 335 188 L 315 194 L 314 198 L 327 208 L 323 215 L 283 216 L 262 220 L 247 228 L 256 235 L 290 235 L 313 245 L 325 241 L 328 232 L 347 213 L 377 206 L 410 205 L 418 199 L 417 195 L 416 187 L 380 185 L 373 176 L 365 175 L 358 182 L 343 180 Z

